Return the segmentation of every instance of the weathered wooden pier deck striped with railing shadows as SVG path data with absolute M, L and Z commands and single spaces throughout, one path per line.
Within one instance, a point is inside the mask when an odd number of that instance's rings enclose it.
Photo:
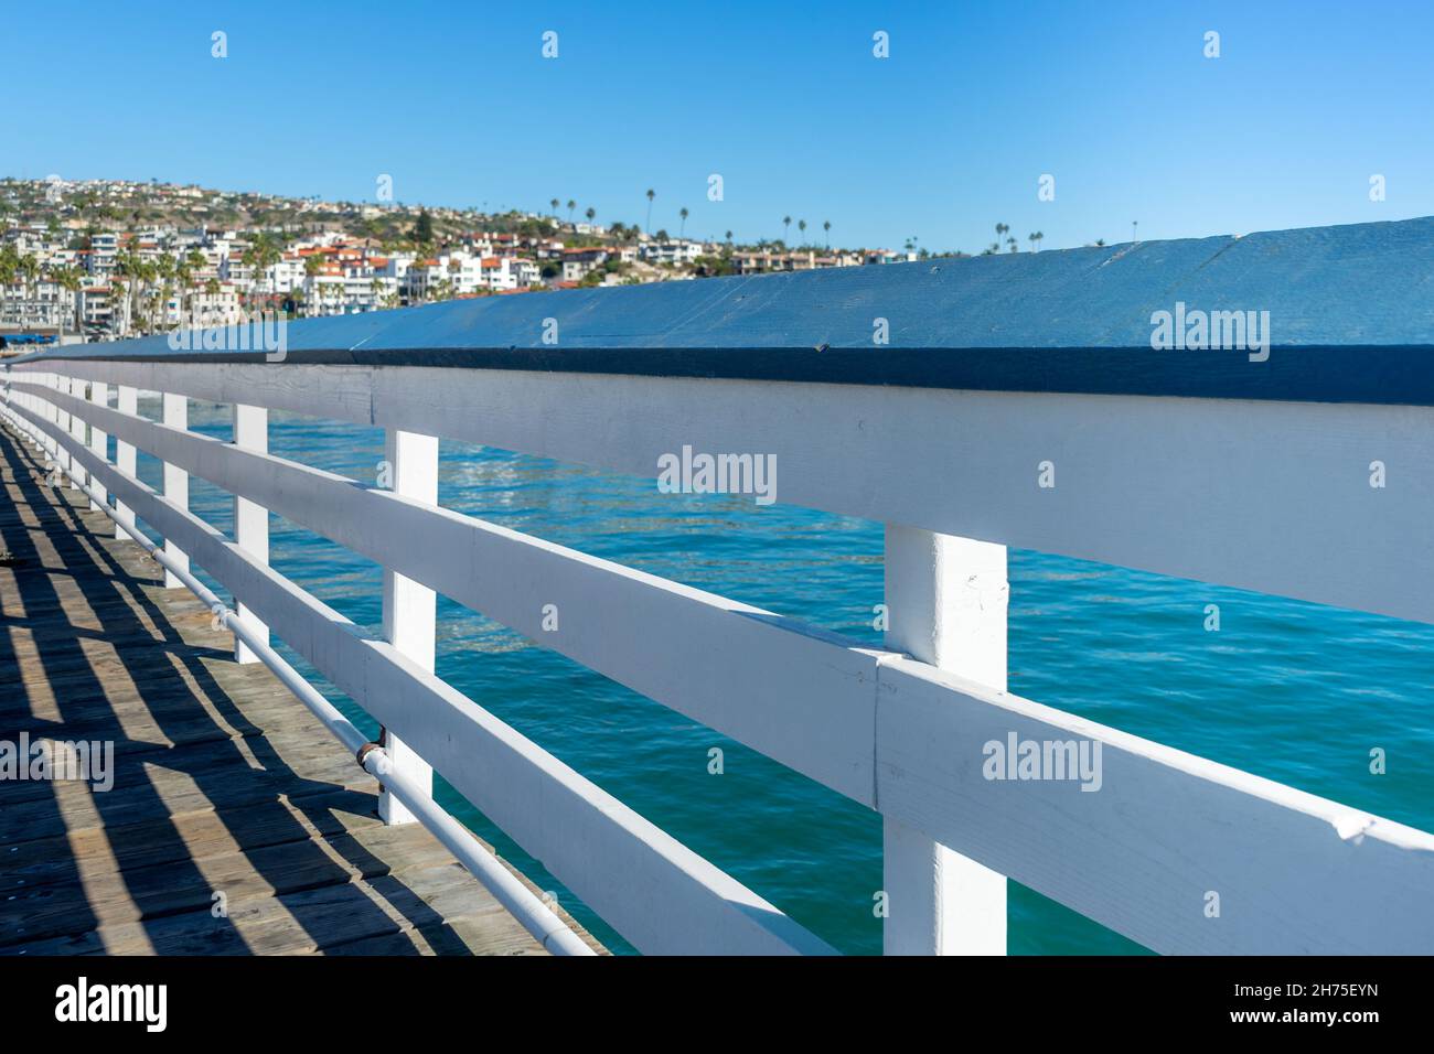
M 0 739 L 115 744 L 0 780 L 0 954 L 545 954 L 10 427 L 0 488 Z

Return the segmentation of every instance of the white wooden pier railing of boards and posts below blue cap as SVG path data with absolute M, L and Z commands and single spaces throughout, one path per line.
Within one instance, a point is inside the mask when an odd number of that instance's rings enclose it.
M 830 949 L 435 677 L 433 591 L 879 812 L 888 952 L 1002 954 L 1007 876 L 1159 952 L 1434 951 L 1434 836 L 1005 691 L 1007 545 L 1434 621 L 1428 486 L 1358 489 L 1427 456 L 1430 407 L 96 356 L 9 367 L 3 410 L 640 951 Z M 268 410 L 387 429 L 394 488 L 270 455 Z M 888 650 L 443 509 L 437 437 L 645 476 L 770 453 L 780 500 L 888 523 Z M 189 475 L 235 495 L 235 539 Z M 265 511 L 386 568 L 381 637 L 268 566 Z M 1100 789 L 987 779 L 1012 733 L 1100 744 Z

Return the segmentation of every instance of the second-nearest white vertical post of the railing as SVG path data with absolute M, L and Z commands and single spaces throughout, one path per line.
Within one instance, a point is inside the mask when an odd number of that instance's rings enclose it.
M 439 440 L 416 432 L 389 429 L 384 436 L 384 459 L 393 479 L 394 493 L 419 502 L 439 502 Z M 420 539 L 412 543 L 422 545 Z M 383 571 L 383 635 L 424 670 L 433 670 L 433 641 L 436 597 L 432 589 L 412 578 Z M 384 731 L 383 746 L 394 767 L 432 793 L 433 767 L 403 744 L 391 731 Z M 379 816 L 384 823 L 412 823 L 402 802 L 386 790 L 379 797 Z

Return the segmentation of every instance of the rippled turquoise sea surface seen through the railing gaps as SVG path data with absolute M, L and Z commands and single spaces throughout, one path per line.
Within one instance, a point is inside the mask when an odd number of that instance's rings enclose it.
M 158 410 L 158 399 L 141 400 L 141 413 Z M 191 403 L 191 427 L 229 439 L 229 410 Z M 383 433 L 274 414 L 270 449 L 373 483 Z M 158 483 L 158 462 L 141 456 L 141 475 Z M 648 479 L 449 442 L 439 502 L 862 642 L 880 640 L 875 522 L 759 508 L 750 498 L 660 495 Z M 192 479 L 191 508 L 232 531 L 232 499 L 218 488 Z M 275 568 L 356 622 L 380 625 L 377 565 L 278 518 L 271 532 Z M 1037 552 L 1012 551 L 1010 565 L 1012 693 L 1434 829 L 1434 627 Z M 1205 630 L 1209 604 L 1219 605 L 1217 632 Z M 374 728 L 295 652 L 281 651 Z M 837 949 L 880 951 L 875 813 L 442 597 L 437 673 Z M 726 751 L 721 776 L 707 773 L 714 746 Z M 1375 747 L 1387 751 L 1387 774 L 1369 771 Z M 436 793 L 609 948 L 631 951 L 442 780 Z M 1012 954 L 1144 951 L 1015 883 L 1010 911 Z

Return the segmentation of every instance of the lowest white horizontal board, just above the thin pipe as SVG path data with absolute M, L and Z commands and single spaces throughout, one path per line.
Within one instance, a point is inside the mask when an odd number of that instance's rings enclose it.
M 219 531 L 9 402 L 648 954 L 830 954 L 774 906 Z

